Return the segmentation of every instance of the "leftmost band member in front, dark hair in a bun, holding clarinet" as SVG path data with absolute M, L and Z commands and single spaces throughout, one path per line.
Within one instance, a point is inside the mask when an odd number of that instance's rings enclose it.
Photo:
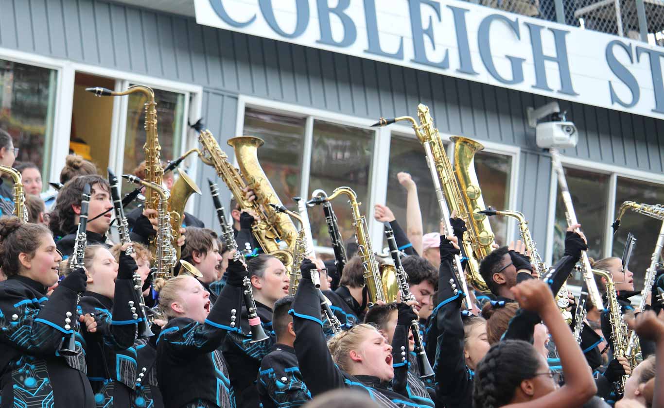
M 7 275 L 0 282 L 3 407 L 95 406 L 80 338 L 76 355 L 58 353 L 76 319 L 78 293 L 86 289 L 86 274 L 78 268 L 46 297 L 46 289 L 58 281 L 61 259 L 45 226 L 0 218 L 0 262 Z M 94 324 L 90 315 L 80 321 Z

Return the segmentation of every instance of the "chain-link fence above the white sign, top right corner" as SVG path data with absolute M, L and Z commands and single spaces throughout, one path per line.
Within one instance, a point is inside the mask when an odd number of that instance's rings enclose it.
M 664 0 L 469 0 L 487 7 L 664 46 Z

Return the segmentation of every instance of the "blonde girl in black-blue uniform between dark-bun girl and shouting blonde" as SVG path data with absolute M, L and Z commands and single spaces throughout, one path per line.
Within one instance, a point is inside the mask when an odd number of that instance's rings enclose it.
M 122 249 L 126 249 L 124 245 Z M 120 252 L 120 262 L 105 245 L 88 245 L 84 252 L 88 288 L 80 299 L 84 313 L 94 314 L 96 330 L 86 331 L 88 379 L 97 407 L 129 407 L 137 378 L 138 305 L 133 291 L 134 259 Z

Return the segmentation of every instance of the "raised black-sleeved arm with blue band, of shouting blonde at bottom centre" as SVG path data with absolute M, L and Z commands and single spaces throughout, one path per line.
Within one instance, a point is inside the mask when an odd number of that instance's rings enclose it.
M 311 270 L 315 267 L 309 259 L 303 261 L 302 278 L 290 310 L 295 328 L 295 355 L 311 397 L 345 387 L 343 374 L 332 360 L 325 342 L 321 305 L 311 283 Z M 343 333 L 337 336 L 343 336 Z

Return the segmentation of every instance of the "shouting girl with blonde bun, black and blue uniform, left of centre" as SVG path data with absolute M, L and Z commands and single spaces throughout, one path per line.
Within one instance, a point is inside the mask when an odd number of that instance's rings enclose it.
M 234 407 L 228 365 L 220 350 L 230 329 L 224 324 L 225 315 L 231 310 L 222 302 L 212 307 L 210 294 L 189 275 L 157 279 L 155 291 L 159 312 L 167 319 L 157 339 L 155 359 L 164 406 Z M 239 298 L 238 291 L 236 307 Z

